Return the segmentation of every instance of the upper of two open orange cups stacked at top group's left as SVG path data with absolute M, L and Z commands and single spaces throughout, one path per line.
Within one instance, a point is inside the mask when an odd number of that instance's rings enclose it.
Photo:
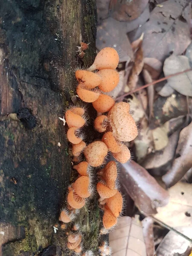
M 93 89 L 98 86 L 102 78 L 97 73 L 93 73 L 87 70 L 77 70 L 76 79 L 79 83 L 84 84 L 89 89 Z

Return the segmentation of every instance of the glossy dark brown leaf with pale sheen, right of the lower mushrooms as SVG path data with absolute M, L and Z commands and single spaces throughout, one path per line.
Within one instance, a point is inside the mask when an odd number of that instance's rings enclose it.
M 156 208 L 169 201 L 168 192 L 142 166 L 134 161 L 121 164 L 120 183 L 145 214 L 157 213 Z

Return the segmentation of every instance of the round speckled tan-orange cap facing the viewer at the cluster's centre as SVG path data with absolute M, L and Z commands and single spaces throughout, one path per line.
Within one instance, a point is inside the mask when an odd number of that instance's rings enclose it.
M 108 148 L 102 141 L 94 141 L 84 149 L 84 156 L 87 163 L 93 167 L 102 165 L 107 154 Z

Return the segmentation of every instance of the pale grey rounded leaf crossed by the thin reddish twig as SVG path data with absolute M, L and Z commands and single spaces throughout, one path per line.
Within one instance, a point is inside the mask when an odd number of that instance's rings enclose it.
M 171 55 L 164 62 L 163 72 L 165 76 L 169 76 L 189 68 L 189 60 L 186 56 Z M 192 96 L 192 71 L 170 77 L 167 81 L 167 84 L 177 92 L 186 96 Z

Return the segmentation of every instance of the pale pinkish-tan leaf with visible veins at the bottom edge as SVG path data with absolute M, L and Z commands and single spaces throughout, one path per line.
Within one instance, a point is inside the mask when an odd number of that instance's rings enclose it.
M 139 215 L 119 218 L 115 230 L 109 233 L 109 245 L 112 256 L 146 256 Z

